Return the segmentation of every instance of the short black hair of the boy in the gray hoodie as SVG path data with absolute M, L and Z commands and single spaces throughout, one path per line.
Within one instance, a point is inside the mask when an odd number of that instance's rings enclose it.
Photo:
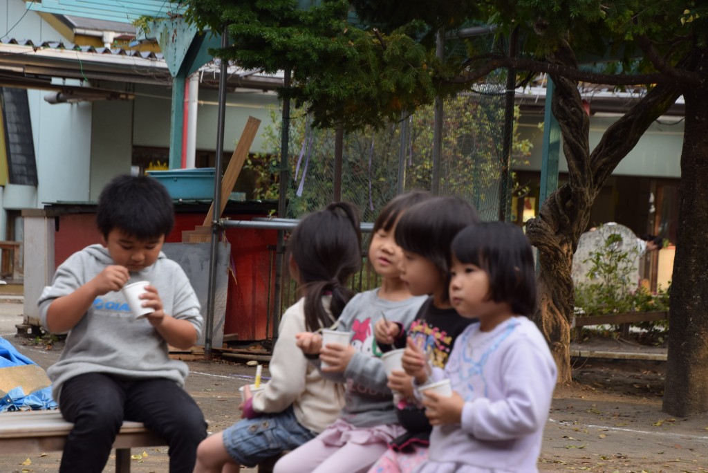
M 159 238 L 172 231 L 174 222 L 172 198 L 150 176 L 117 176 L 98 196 L 96 224 L 105 239 L 113 229 L 140 240 Z

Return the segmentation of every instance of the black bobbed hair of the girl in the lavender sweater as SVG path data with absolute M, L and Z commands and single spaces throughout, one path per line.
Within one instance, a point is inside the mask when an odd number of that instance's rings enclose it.
M 452 255 L 489 275 L 489 299 L 508 302 L 515 314 L 530 317 L 536 309 L 536 272 L 527 236 L 508 222 L 483 222 L 459 232 Z

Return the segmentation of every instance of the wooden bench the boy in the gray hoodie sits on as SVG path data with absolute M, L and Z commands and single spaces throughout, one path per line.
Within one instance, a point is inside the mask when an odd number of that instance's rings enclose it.
M 0 454 L 64 450 L 73 424 L 59 411 L 13 411 L 0 414 Z M 115 438 L 115 473 L 130 473 L 130 448 L 157 447 L 165 441 L 140 422 L 124 421 Z

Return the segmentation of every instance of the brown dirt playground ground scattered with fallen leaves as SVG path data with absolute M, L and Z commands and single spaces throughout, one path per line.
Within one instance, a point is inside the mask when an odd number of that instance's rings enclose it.
M 45 368 L 61 352 L 61 343 L 46 350 L 25 345 L 21 338 L 10 341 Z M 621 341 L 586 341 L 576 348 L 666 353 L 661 347 Z M 190 367 L 186 387 L 204 411 L 210 432 L 237 421 L 238 388 L 252 382 L 255 368 L 245 362 L 183 358 Z M 673 418 L 661 412 L 665 363 L 588 358 L 573 363 L 573 383 L 556 387 L 541 472 L 708 472 L 708 414 Z M 132 472 L 168 471 L 166 448 L 132 454 Z M 0 473 L 56 472 L 59 458 L 59 452 L 0 455 Z M 105 472 L 114 472 L 113 459 Z

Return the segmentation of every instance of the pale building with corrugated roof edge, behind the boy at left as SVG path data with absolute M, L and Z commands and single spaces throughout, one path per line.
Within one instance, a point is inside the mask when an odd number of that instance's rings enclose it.
M 0 172 L 0 241 L 23 240 L 22 210 L 95 202 L 110 178 L 130 173 L 135 149 L 169 150 L 172 79 L 162 55 L 130 45 L 134 37 L 130 24 L 64 18 L 30 11 L 23 0 L 0 0 L 0 88 L 13 96 L 26 93 L 29 115 L 8 141 L 22 135 L 29 143 L 31 136 L 36 169 L 32 185 Z M 213 154 L 218 77 L 203 67 L 198 81 L 193 146 Z M 277 77 L 230 74 L 225 154 L 234 150 L 249 115 L 270 120 L 278 84 Z M 17 118 L 12 110 L 5 113 L 10 122 Z M 251 152 L 260 151 L 262 141 L 259 134 Z M 12 171 L 20 155 L 3 146 L 0 171 Z

